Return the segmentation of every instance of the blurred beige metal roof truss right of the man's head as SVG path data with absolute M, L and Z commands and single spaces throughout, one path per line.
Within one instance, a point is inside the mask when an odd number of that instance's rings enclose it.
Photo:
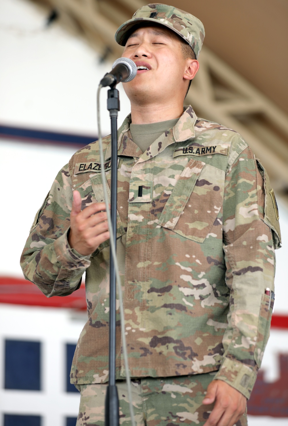
M 203 48 L 186 100 L 204 117 L 238 131 L 278 189 L 288 188 L 288 118 L 224 61 Z M 219 98 L 219 93 L 227 99 Z M 186 102 L 187 104 L 187 102 Z

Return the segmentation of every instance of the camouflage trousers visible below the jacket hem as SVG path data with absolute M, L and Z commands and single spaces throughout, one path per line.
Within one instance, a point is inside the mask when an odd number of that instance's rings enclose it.
M 203 426 L 213 408 L 202 405 L 207 386 L 215 373 L 165 378 L 132 379 L 134 418 L 137 426 Z M 119 396 L 120 425 L 131 426 L 127 385 L 116 382 Z M 81 391 L 76 426 L 105 426 L 107 384 L 77 385 Z M 247 426 L 244 413 L 236 426 Z

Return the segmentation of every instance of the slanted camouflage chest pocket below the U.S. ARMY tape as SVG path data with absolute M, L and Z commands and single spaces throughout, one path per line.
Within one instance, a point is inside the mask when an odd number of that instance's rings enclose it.
M 158 225 L 188 239 L 203 242 L 218 216 L 224 196 L 225 172 L 190 160 L 181 174 Z

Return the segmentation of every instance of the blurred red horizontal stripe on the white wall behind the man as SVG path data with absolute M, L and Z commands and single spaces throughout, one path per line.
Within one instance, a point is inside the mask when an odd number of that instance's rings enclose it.
M 0 303 L 29 306 L 51 306 L 57 308 L 76 308 L 86 311 L 85 285 L 69 296 L 47 298 L 39 288 L 23 278 L 0 276 Z M 272 315 L 271 328 L 288 330 L 288 314 Z

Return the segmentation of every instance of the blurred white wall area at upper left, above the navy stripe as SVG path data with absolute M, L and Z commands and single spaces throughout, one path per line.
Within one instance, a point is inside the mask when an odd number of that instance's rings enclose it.
M 32 2 L 0 2 L 0 123 L 96 135 L 96 89 L 111 63 L 64 32 Z M 122 86 L 122 123 L 130 103 Z M 102 132 L 110 133 L 102 89 Z

